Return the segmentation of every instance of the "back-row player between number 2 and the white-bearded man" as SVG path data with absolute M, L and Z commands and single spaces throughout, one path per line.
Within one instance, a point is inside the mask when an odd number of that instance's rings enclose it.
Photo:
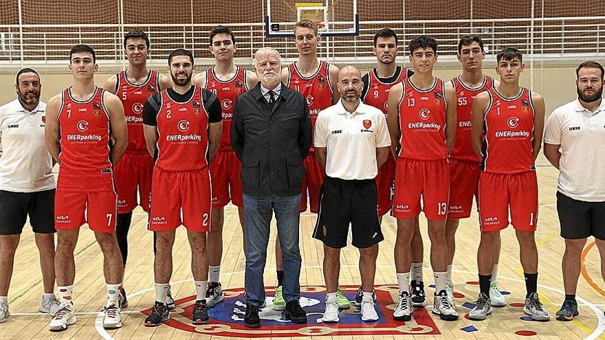
M 223 136 L 219 152 L 210 163 L 212 179 L 212 229 L 208 232 L 208 291 L 206 302 L 214 307 L 223 301 L 223 288 L 219 281 L 223 256 L 224 207 L 231 201 L 237 207 L 245 248 L 243 201 L 241 198 L 241 162 L 231 148 L 230 131 L 233 105 L 238 95 L 256 86 L 254 72 L 233 63 L 237 49 L 235 36 L 229 27 L 218 25 L 210 31 L 210 53 L 214 67 L 193 77 L 193 84 L 214 93 L 221 103 Z

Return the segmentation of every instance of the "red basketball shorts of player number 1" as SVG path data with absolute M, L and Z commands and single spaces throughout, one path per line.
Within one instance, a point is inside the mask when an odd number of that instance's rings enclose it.
M 510 221 L 522 231 L 535 231 L 538 223 L 538 178 L 535 171 L 519 174 L 479 175 L 481 231 L 505 229 Z

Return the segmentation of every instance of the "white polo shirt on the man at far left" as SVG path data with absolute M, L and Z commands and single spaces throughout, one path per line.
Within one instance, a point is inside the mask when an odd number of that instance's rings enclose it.
M 56 188 L 44 141 L 46 103 L 26 111 L 19 100 L 0 106 L 0 190 L 38 192 Z

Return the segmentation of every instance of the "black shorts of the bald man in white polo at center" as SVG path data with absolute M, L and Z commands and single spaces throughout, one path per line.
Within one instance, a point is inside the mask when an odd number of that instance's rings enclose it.
M 349 223 L 354 247 L 367 248 L 384 240 L 378 221 L 376 182 L 326 176 L 313 237 L 331 248 L 347 247 Z

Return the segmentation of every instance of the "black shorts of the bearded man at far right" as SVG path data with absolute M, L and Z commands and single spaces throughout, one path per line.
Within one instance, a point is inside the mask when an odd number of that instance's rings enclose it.
M 605 202 L 578 201 L 557 192 L 557 212 L 562 238 L 605 240 Z

